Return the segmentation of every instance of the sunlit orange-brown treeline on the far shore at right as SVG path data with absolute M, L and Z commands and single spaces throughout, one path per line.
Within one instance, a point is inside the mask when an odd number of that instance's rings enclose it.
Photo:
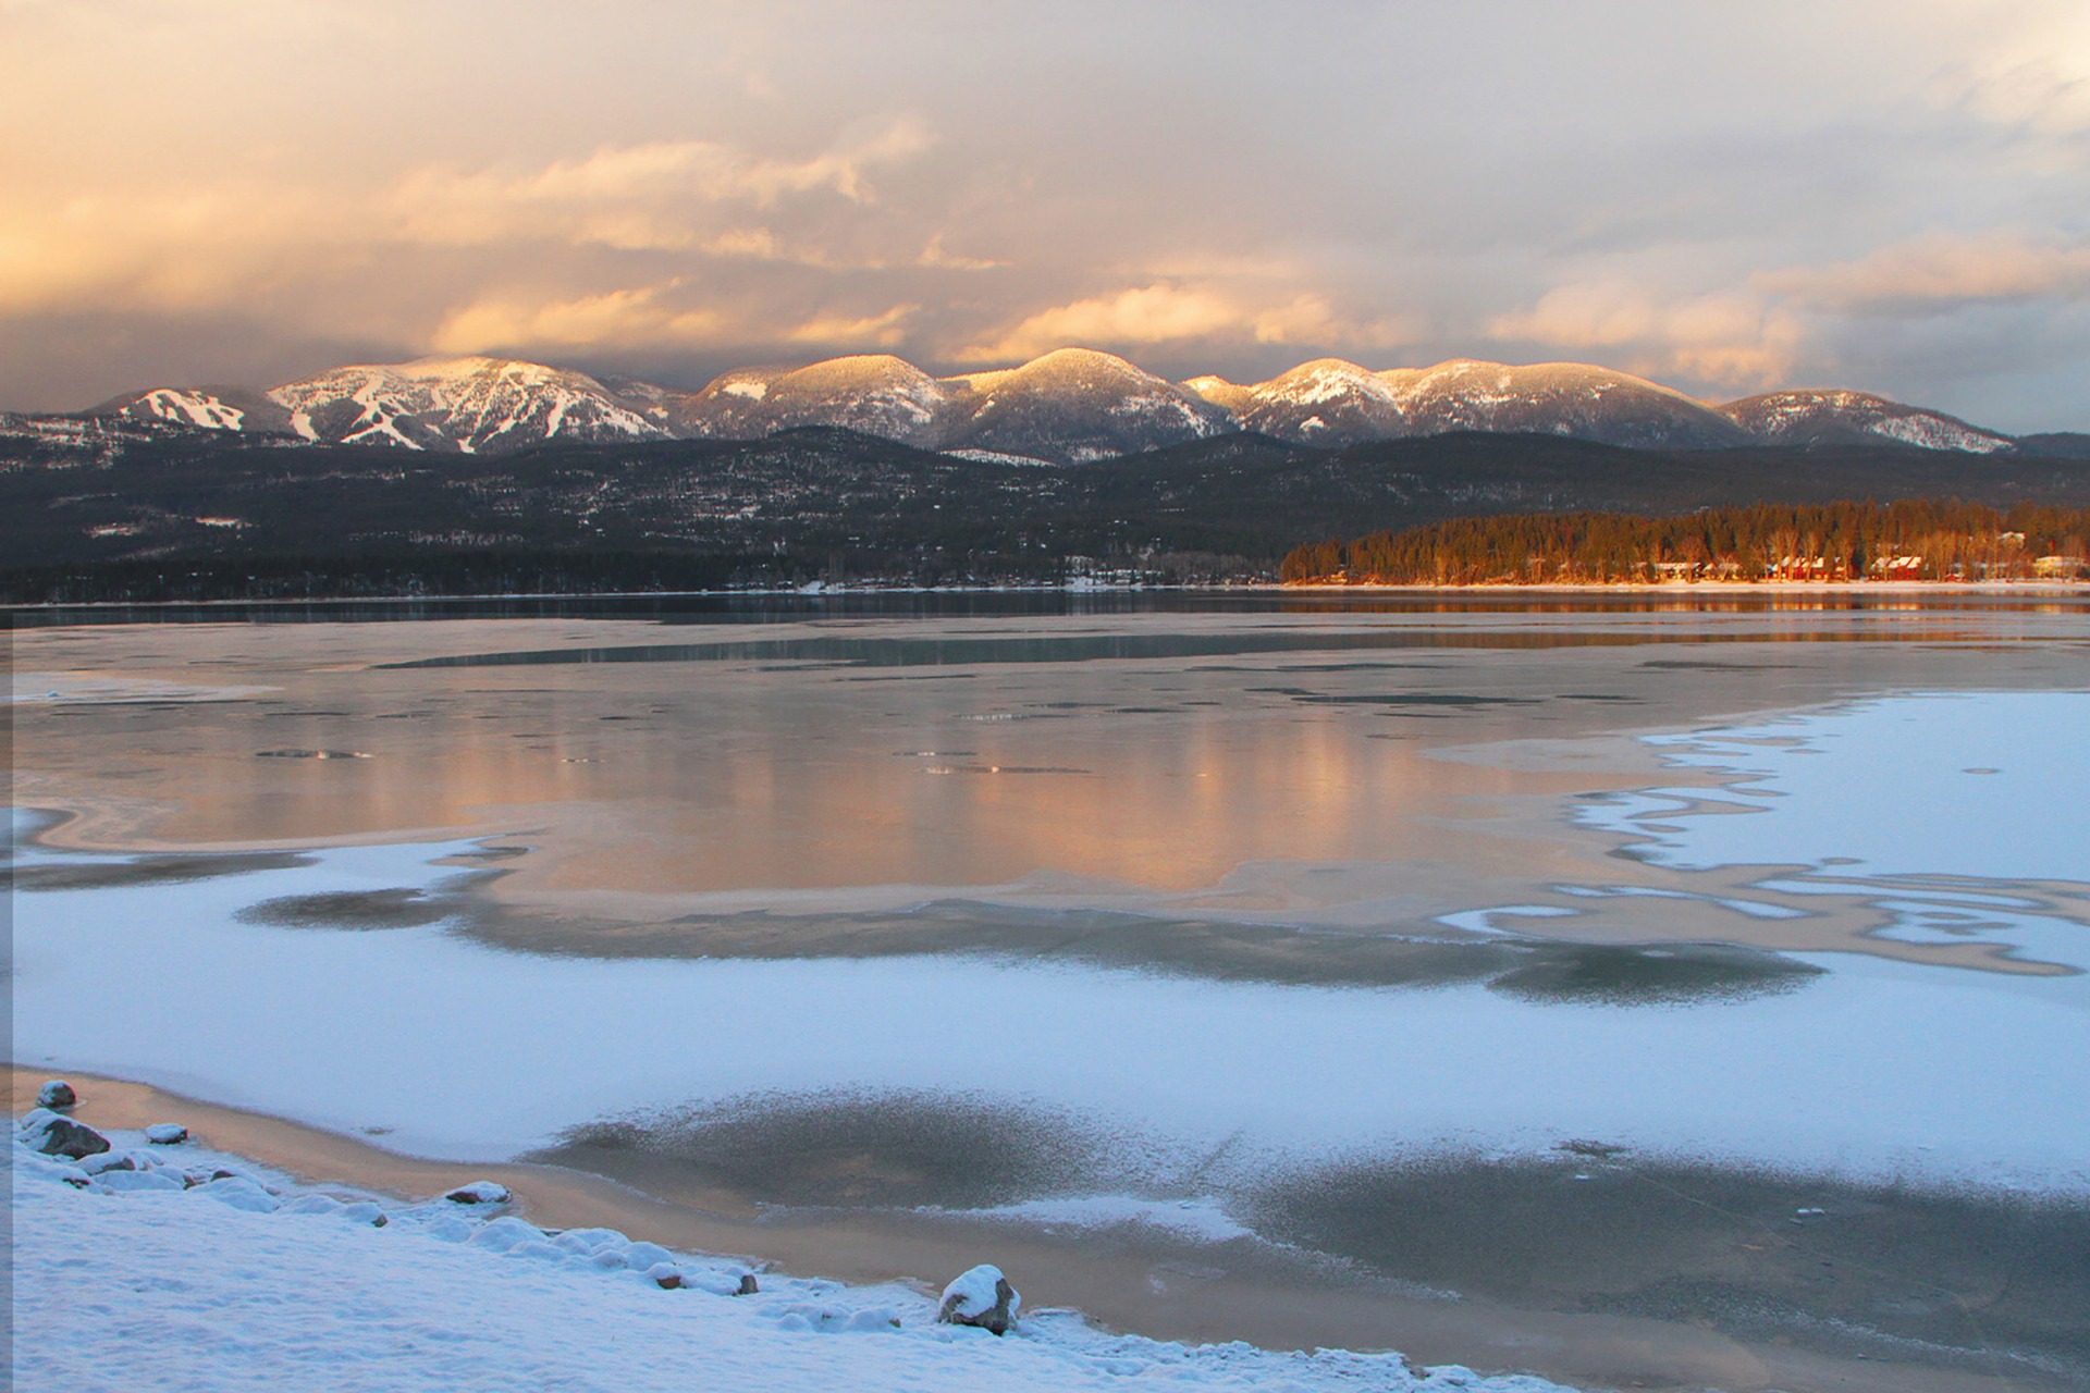
M 1287 583 L 2034 581 L 2090 576 L 2090 510 L 1958 499 L 1453 518 L 1296 547 Z

